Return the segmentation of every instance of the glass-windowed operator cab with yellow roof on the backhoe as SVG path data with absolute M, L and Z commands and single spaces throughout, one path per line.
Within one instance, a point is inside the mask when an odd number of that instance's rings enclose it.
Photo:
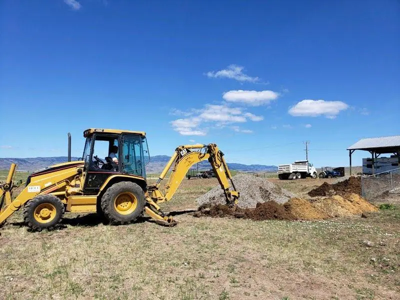
M 144 132 L 90 128 L 83 136 L 85 190 L 96 192 L 113 174 L 146 177 L 149 155 Z

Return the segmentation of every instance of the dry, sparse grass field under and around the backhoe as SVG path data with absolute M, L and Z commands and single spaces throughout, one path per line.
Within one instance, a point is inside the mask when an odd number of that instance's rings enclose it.
M 305 196 L 323 180 L 273 182 Z M 323 221 L 190 215 L 216 184 L 185 179 L 163 205 L 179 222 L 172 228 L 66 213 L 63 228 L 32 233 L 15 213 L 0 229 L 0 298 L 400 298 L 398 199 L 377 199 L 391 205 L 367 217 Z

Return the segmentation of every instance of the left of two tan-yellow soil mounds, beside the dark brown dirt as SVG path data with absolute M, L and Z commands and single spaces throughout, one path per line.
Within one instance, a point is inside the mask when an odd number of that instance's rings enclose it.
M 328 215 L 314 207 L 309 201 L 301 198 L 291 198 L 283 204 L 297 220 L 318 220 L 328 218 Z

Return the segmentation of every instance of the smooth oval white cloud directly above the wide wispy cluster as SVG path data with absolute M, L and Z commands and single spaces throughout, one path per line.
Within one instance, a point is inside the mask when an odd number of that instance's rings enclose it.
M 252 106 L 269 104 L 279 96 L 278 92 L 272 90 L 229 90 L 223 93 L 222 98 L 228 102 L 239 102 Z

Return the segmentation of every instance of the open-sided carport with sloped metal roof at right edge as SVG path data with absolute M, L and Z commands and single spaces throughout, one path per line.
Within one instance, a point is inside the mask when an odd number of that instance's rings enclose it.
M 351 154 L 355 150 L 363 150 L 371 153 L 372 157 L 372 174 L 375 173 L 374 162 L 380 154 L 392 153 L 397 156 L 400 164 L 400 135 L 381 136 L 372 138 L 361 138 L 355 144 L 347 148 L 350 158 L 350 175 L 351 175 Z

